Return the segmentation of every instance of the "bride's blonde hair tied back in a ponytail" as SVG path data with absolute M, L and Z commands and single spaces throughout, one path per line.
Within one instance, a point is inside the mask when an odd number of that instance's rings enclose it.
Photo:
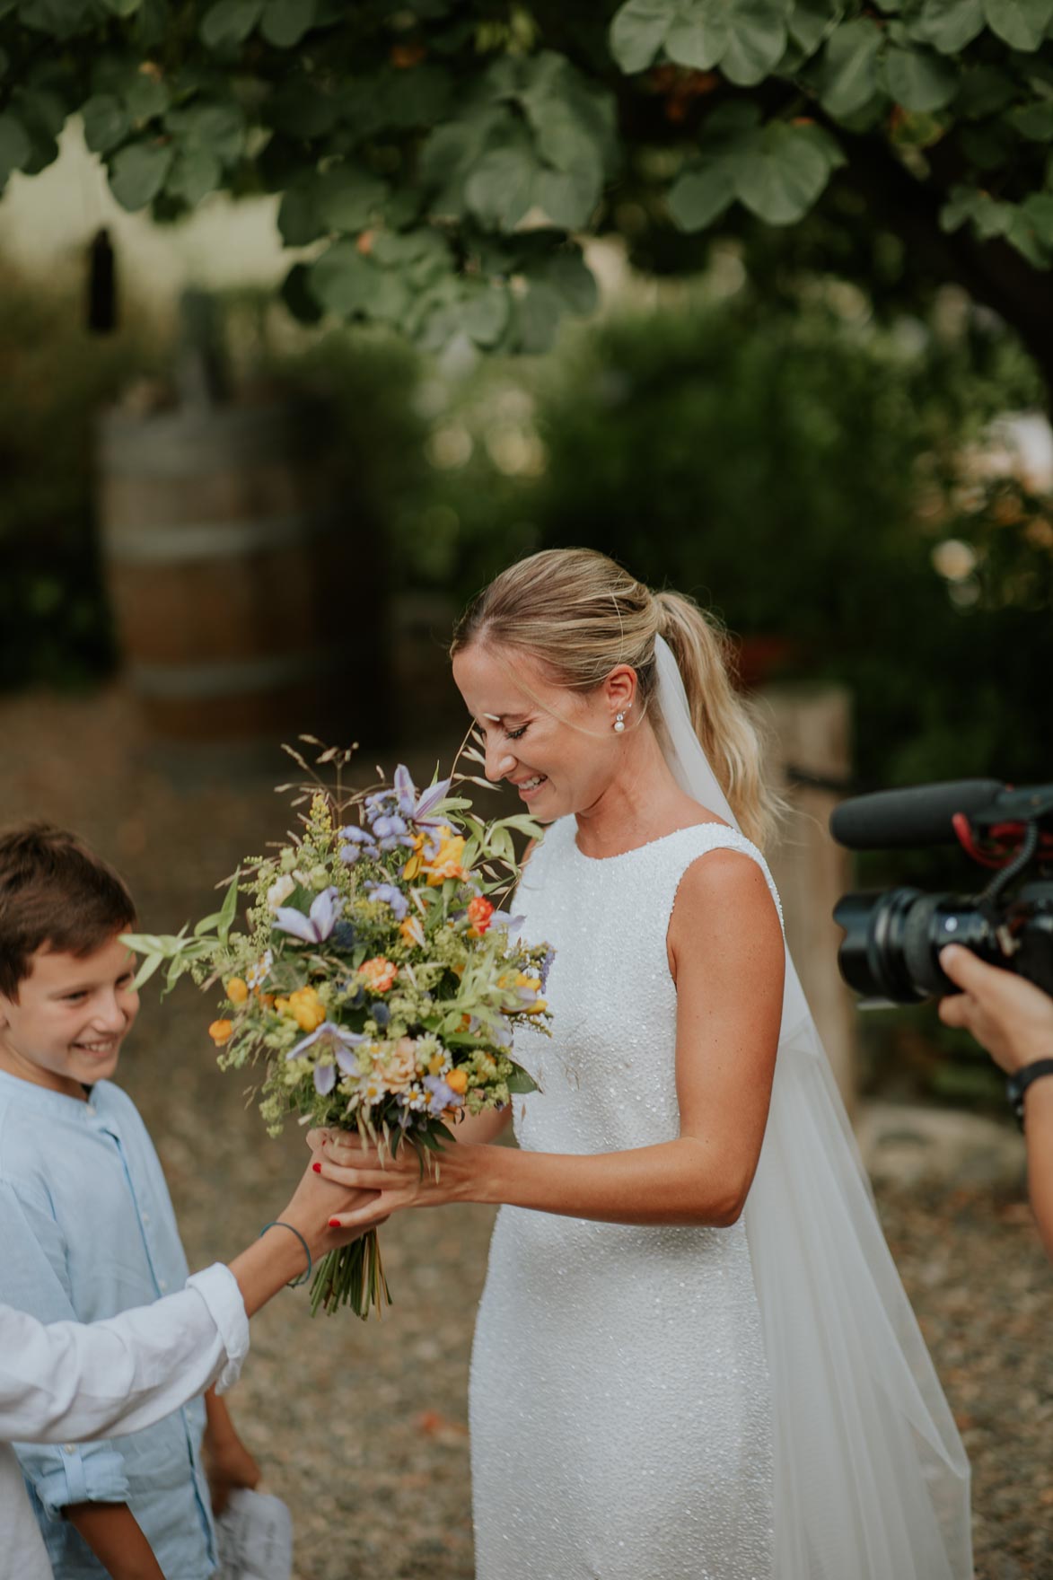
M 607 555 L 549 548 L 509 566 L 468 605 L 451 657 L 474 641 L 541 660 L 569 690 L 590 692 L 618 664 L 636 670 L 644 713 L 664 735 L 656 703 L 655 638 L 672 648 L 691 722 L 743 833 L 764 847 L 783 801 L 764 776 L 762 733 L 730 679 L 724 629 L 681 592 L 651 592 Z

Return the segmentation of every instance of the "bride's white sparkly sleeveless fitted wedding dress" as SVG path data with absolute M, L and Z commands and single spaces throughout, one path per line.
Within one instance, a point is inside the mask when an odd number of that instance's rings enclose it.
M 552 1040 L 515 1057 L 519 1146 L 674 1141 L 677 991 L 666 934 L 724 823 L 590 858 L 572 817 L 531 855 L 515 910 L 547 939 Z M 773 1580 L 772 1401 L 740 1218 L 625 1226 L 501 1207 L 471 1360 L 477 1580 Z M 847 1580 L 847 1577 L 844 1577 Z

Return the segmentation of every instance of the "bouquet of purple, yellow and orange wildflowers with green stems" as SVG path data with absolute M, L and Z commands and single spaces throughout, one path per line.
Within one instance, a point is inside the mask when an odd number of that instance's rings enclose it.
M 542 831 L 523 815 L 474 817 L 452 793 L 485 784 L 471 776 L 421 793 L 400 766 L 394 782 L 345 795 L 349 758 L 332 747 L 318 758 L 335 763 L 335 790 L 313 774 L 280 787 L 307 807 L 299 830 L 239 869 L 215 915 L 125 942 L 144 956 L 136 986 L 163 962 L 168 989 L 187 972 L 223 983 L 209 1032 L 223 1068 L 261 1070 L 272 1134 L 294 1114 L 357 1130 L 381 1157 L 410 1146 L 432 1168 L 455 1139 L 451 1122 L 534 1089 L 509 1049 L 519 1025 L 547 1032 L 550 951 L 523 943 L 495 899 L 519 875 L 511 831 Z M 332 1251 L 311 1286 L 311 1315 L 346 1304 L 368 1316 L 386 1300 L 376 1231 Z

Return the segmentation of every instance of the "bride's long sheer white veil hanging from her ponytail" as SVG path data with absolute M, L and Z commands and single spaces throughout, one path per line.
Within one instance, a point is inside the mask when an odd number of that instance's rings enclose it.
M 662 637 L 655 654 L 669 766 L 738 828 Z M 971 1580 L 969 1465 L 789 951 L 745 1220 L 772 1382 L 775 1575 Z

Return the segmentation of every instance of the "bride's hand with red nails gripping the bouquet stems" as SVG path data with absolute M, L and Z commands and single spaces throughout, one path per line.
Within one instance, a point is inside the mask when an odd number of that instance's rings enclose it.
M 430 1152 L 424 1164 L 410 1146 L 402 1146 L 383 1161 L 376 1146 L 346 1130 L 308 1130 L 307 1144 L 315 1153 L 311 1168 L 337 1185 L 375 1191 L 367 1202 L 330 1220 L 335 1228 L 373 1229 L 403 1207 L 441 1207 L 470 1201 L 473 1153 L 479 1149 L 459 1144 Z

